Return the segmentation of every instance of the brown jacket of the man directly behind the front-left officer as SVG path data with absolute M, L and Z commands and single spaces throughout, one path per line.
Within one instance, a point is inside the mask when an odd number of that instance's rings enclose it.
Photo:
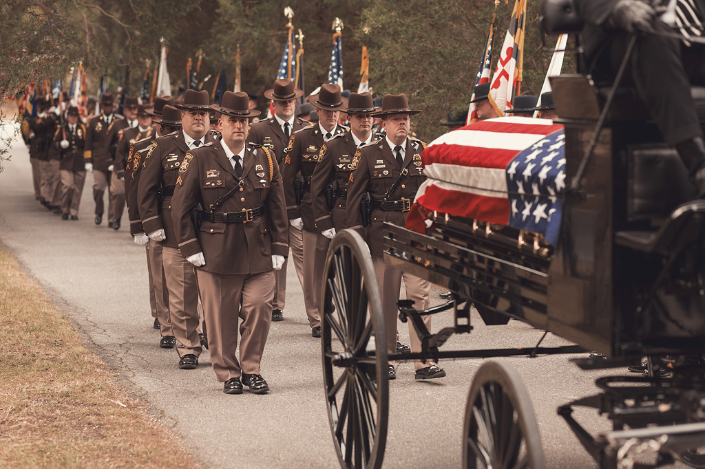
M 209 132 L 203 140 L 204 144 L 214 142 Z M 166 191 L 176 187 L 178 171 L 188 151 L 183 129 L 179 129 L 178 132 L 154 140 L 152 149 L 147 152 L 142 163 L 142 175 L 137 185 L 137 206 L 147 235 L 164 229 L 166 239 L 161 241 L 162 246 L 177 248 L 178 242 L 171 221 L 171 196 L 164 196 L 160 208 L 157 191 L 160 187 L 164 187 Z

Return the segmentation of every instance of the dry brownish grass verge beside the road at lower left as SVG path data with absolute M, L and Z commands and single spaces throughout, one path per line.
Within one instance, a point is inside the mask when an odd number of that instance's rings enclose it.
M 0 249 L 0 467 L 200 468 Z

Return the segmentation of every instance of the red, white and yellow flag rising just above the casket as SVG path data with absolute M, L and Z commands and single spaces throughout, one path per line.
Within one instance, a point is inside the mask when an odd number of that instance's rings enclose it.
M 516 0 L 497 68 L 492 76 L 489 101 L 500 116 L 504 115 L 506 109 L 512 108 L 512 98 L 521 93 L 526 13 L 527 0 Z

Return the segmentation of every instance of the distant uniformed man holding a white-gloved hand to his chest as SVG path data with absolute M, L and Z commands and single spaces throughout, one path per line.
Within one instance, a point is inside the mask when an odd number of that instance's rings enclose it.
M 71 106 L 66 114 L 66 123 L 54 134 L 54 149 L 59 155 L 59 188 L 61 219 L 78 220 L 78 206 L 83 194 L 86 178 L 83 163 L 86 126 L 79 122 L 78 108 Z

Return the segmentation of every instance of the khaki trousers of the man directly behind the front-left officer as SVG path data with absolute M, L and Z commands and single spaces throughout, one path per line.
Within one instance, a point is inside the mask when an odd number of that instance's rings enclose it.
M 198 327 L 198 291 L 193 265 L 176 248 L 161 246 L 164 281 L 168 290 L 171 334 L 178 340 L 178 355 L 201 354 Z

